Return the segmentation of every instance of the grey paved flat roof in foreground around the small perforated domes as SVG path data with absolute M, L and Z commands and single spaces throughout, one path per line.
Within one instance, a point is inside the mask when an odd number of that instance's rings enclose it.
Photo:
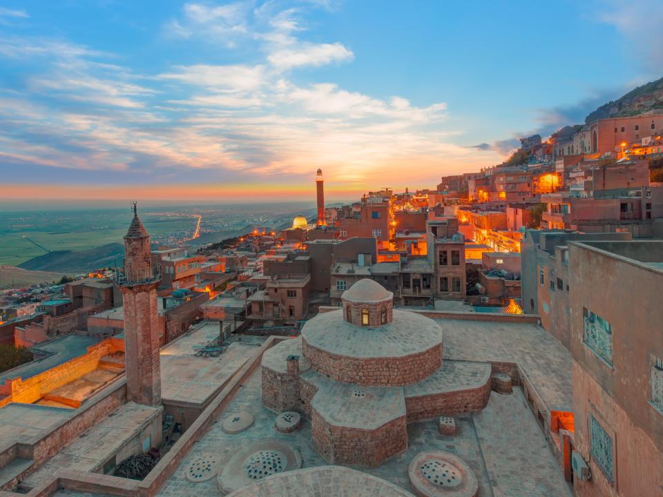
M 327 462 L 317 454 L 311 442 L 311 422 L 302 420 L 302 425 L 294 433 L 278 433 L 273 429 L 276 413 L 262 406 L 260 399 L 260 370 L 256 370 L 245 382 L 236 396 L 229 402 L 211 429 L 184 457 L 180 467 L 166 481 L 160 491 L 165 497 L 198 497 L 201 495 L 220 495 L 214 479 L 203 483 L 190 483 L 184 478 L 184 469 L 193 459 L 201 454 L 218 454 L 223 460 L 230 458 L 238 449 L 265 438 L 278 438 L 288 442 L 300 452 L 302 470 L 286 473 L 295 485 L 287 493 L 275 493 L 278 483 L 256 487 L 244 487 L 237 492 L 237 497 L 247 496 L 309 496 L 301 493 L 311 482 L 307 471 L 314 467 L 327 467 Z M 253 426 L 242 433 L 231 435 L 221 428 L 221 420 L 227 413 L 247 411 L 253 414 Z M 437 420 L 414 422 L 407 426 L 408 447 L 405 452 L 387 460 L 373 469 L 361 469 L 361 474 L 387 480 L 390 484 L 411 491 L 407 467 L 412 458 L 423 450 L 448 451 L 468 463 L 479 480 L 480 497 L 570 497 L 571 493 L 564 482 L 561 469 L 550 452 L 548 443 L 528 409 L 527 402 L 519 389 L 510 395 L 490 394 L 490 401 L 481 413 L 457 418 L 459 433 L 457 436 L 443 436 L 437 429 Z M 524 470 L 526 469 L 526 470 Z M 298 475 L 309 475 L 306 478 Z M 300 479 L 303 478 L 302 481 Z M 340 496 L 358 496 L 365 494 L 363 478 L 349 477 L 346 488 L 358 488 L 359 493 L 338 494 Z M 356 478 L 359 478 L 356 480 Z M 273 478 L 269 481 L 276 481 Z M 356 486 L 356 482 L 363 482 Z M 298 486 L 302 485 L 302 486 Z M 355 485 L 355 487 L 352 487 Z M 269 490 L 267 490 L 269 489 Z M 271 492 L 271 493 L 270 493 Z M 300 492 L 300 493 L 297 493 Z M 72 492 L 58 496 L 82 497 Z M 316 495 L 316 494 L 312 494 Z M 325 496 L 326 494 L 320 494 Z M 332 494 L 337 495 L 337 494 Z M 381 496 L 379 491 L 372 496 Z M 399 494 L 396 494 L 399 495 Z M 408 494 L 401 494 L 407 496 Z

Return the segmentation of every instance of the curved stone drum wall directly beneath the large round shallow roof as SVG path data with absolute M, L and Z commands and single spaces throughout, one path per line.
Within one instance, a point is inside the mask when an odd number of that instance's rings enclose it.
M 332 380 L 381 387 L 416 383 L 442 365 L 442 344 L 397 358 L 350 358 L 321 351 L 302 339 L 302 352 L 313 369 Z

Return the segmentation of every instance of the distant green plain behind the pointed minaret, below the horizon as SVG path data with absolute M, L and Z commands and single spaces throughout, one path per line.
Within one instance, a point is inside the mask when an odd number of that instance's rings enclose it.
M 195 219 L 142 215 L 153 240 L 166 235 L 186 234 L 193 230 Z M 84 250 L 119 242 L 126 235 L 131 214 L 119 211 L 78 211 L 50 213 L 2 213 L 0 216 L 0 264 L 17 266 L 46 253 L 24 238 L 26 236 L 50 251 Z

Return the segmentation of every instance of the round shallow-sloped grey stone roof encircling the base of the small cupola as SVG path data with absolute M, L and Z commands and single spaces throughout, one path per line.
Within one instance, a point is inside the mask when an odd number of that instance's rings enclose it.
M 343 310 L 339 309 L 316 315 L 305 324 L 302 335 L 311 347 L 336 355 L 400 357 L 427 351 L 441 342 L 439 329 L 431 324 L 422 315 L 394 310 L 392 322 L 360 327 L 343 320 Z

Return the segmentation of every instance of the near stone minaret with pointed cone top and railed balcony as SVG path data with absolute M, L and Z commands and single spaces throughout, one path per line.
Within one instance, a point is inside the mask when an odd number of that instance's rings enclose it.
M 124 269 L 116 275 L 124 298 L 126 400 L 161 404 L 160 337 L 157 311 L 159 272 L 153 271 L 150 235 L 140 222 L 136 204 L 124 237 Z

